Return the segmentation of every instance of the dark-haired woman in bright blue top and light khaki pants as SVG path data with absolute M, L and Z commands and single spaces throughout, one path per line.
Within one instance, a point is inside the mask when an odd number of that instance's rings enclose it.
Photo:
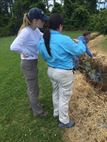
M 68 115 L 69 100 L 72 95 L 75 67 L 74 56 L 86 52 L 79 41 L 75 43 L 69 36 L 61 34 L 63 18 L 53 14 L 48 21 L 48 29 L 39 42 L 39 52 L 48 64 L 48 76 L 53 86 L 53 116 L 59 117 L 60 128 L 71 128 L 75 122 Z

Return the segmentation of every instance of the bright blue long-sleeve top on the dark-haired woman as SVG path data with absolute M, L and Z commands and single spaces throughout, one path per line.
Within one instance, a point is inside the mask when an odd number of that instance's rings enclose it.
M 44 39 L 39 42 L 38 49 L 48 66 L 58 69 L 73 69 L 75 67 L 74 56 L 81 56 L 86 52 L 86 47 L 79 41 L 75 43 L 69 36 L 58 31 L 50 30 L 50 56 L 46 50 Z

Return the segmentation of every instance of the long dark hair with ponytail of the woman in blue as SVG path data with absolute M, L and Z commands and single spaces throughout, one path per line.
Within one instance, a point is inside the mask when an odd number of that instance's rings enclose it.
M 45 46 L 47 49 L 48 54 L 51 56 L 51 50 L 50 50 L 50 29 L 52 30 L 58 30 L 59 26 L 63 25 L 63 18 L 60 14 L 54 13 L 50 16 L 49 21 L 48 21 L 48 28 L 44 32 L 43 38 L 45 42 Z

